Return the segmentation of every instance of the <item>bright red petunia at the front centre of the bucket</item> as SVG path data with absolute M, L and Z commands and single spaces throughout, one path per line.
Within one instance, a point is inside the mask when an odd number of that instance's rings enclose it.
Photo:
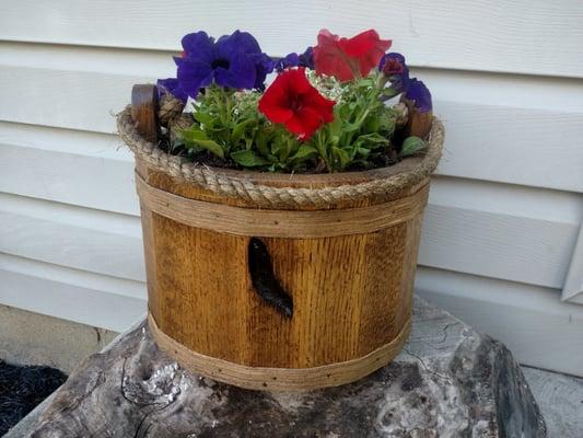
M 301 140 L 307 140 L 325 123 L 334 119 L 336 102 L 324 97 L 312 87 L 303 67 L 284 70 L 259 100 L 259 111 L 273 123 Z

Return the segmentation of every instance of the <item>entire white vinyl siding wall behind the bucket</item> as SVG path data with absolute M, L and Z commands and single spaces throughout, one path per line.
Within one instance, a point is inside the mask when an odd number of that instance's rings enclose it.
M 117 331 L 143 313 L 133 159 L 114 114 L 133 83 L 174 74 L 183 34 L 237 27 L 272 55 L 320 27 L 393 38 L 446 127 L 418 291 L 521 361 L 583 374 L 583 296 L 561 301 L 583 278 L 576 0 L 0 5 L 0 303 Z

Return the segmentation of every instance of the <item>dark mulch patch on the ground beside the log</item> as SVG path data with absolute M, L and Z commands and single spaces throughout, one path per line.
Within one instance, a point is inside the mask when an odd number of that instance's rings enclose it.
M 50 367 L 21 367 L 0 360 L 0 437 L 67 380 Z

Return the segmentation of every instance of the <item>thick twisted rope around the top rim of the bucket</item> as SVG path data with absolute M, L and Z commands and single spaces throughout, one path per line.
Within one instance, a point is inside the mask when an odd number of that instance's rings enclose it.
M 407 187 L 419 184 L 433 173 L 441 157 L 444 139 L 443 125 L 434 117 L 429 149 L 422 160 L 413 168 L 386 177 L 357 184 L 306 188 L 255 184 L 248 180 L 232 177 L 219 169 L 193 163 L 184 157 L 168 154 L 140 136 L 136 123 L 131 118 L 130 106 L 118 115 L 117 128 L 119 136 L 133 153 L 160 172 L 187 181 L 218 195 L 253 201 L 258 207 L 288 207 L 292 209 L 307 206 L 326 208 L 336 203 L 372 197 L 389 198 Z

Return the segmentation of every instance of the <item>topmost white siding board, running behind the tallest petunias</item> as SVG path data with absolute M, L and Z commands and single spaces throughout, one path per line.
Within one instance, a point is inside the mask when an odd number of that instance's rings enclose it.
M 8 41 L 175 50 L 187 32 L 244 27 L 282 55 L 314 44 L 320 27 L 343 35 L 374 27 L 417 66 L 583 77 L 576 0 L 22 0 L 0 12 L 0 38 Z

